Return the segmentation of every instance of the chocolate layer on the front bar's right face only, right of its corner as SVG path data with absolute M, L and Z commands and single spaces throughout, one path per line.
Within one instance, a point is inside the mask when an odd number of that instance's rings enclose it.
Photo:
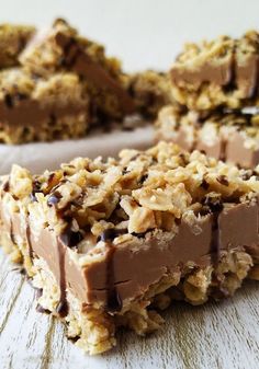
M 182 220 L 176 235 L 168 240 L 150 237 L 137 252 L 133 252 L 134 244 L 117 246 L 113 268 L 119 296 L 122 300 L 140 296 L 167 273 L 189 262 L 201 267 L 214 263 L 223 250 L 252 245 L 259 252 L 258 224 L 257 204 L 224 206 L 216 219 L 207 215 L 192 224 Z M 105 301 L 105 263 L 91 264 L 86 277 L 90 300 Z

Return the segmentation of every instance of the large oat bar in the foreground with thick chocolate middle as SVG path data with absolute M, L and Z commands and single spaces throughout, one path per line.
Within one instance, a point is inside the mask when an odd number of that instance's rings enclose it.
M 90 354 L 126 326 L 157 330 L 171 300 L 232 296 L 259 278 L 258 169 L 160 142 L 1 177 L 1 245 L 23 261 L 38 309 Z

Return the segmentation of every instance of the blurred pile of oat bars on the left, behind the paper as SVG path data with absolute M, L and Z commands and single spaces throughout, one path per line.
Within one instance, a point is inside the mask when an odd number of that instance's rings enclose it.
M 79 138 L 135 113 L 153 117 L 166 103 L 166 76 L 124 73 L 64 20 L 47 31 L 2 25 L 0 46 L 0 142 Z

